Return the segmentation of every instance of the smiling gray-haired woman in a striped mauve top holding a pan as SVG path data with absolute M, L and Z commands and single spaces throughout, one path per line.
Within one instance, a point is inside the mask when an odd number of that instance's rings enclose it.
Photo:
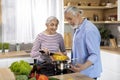
M 58 24 L 59 21 L 56 17 L 48 17 L 46 20 L 46 30 L 39 33 L 35 39 L 30 55 L 39 62 L 51 61 L 51 58 L 47 56 L 49 53 L 66 53 L 63 37 L 60 33 L 56 32 Z M 40 52 L 41 50 L 45 55 Z

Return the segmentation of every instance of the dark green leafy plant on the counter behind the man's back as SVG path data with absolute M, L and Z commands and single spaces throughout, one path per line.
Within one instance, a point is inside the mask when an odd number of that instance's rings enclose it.
M 101 35 L 101 46 L 108 45 L 111 31 L 104 26 L 98 27 L 98 29 L 99 29 L 100 35 Z

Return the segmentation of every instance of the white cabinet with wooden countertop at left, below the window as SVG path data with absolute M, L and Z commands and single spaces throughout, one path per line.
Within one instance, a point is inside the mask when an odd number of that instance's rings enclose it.
M 0 54 L 0 68 L 8 68 L 13 62 L 24 60 L 28 63 L 34 63 L 34 59 L 25 51 L 13 51 Z

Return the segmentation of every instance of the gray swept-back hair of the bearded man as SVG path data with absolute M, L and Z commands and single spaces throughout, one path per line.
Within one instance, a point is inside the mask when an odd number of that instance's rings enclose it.
M 80 15 L 82 15 L 82 13 L 83 13 L 83 11 L 81 10 L 81 9 L 79 9 L 79 8 L 77 8 L 77 7 L 74 7 L 74 6 L 68 6 L 65 10 L 64 10 L 64 13 L 68 13 L 68 12 L 70 12 L 70 13 L 72 13 L 74 16 L 76 15 L 76 14 L 80 14 Z

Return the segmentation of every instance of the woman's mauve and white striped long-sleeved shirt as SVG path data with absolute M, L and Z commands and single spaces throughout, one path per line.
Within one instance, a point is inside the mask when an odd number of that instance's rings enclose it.
M 43 56 L 39 52 L 40 49 L 47 48 L 50 52 L 65 52 L 64 40 L 61 34 L 47 35 L 45 33 L 38 34 L 31 50 L 31 57 L 43 60 Z

